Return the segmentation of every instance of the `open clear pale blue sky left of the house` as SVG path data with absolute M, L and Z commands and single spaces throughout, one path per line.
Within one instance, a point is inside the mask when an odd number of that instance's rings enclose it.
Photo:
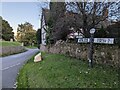
M 18 24 L 29 22 L 33 28 L 39 28 L 41 10 L 38 2 L 2 2 L 0 15 L 7 20 L 14 32 Z M 1 6 L 1 4 L 0 4 Z

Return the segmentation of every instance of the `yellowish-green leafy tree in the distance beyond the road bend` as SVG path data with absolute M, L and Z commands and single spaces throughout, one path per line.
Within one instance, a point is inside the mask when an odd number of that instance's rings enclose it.
M 19 42 L 23 42 L 25 45 L 36 43 L 36 30 L 33 29 L 33 25 L 29 22 L 19 24 L 16 39 Z

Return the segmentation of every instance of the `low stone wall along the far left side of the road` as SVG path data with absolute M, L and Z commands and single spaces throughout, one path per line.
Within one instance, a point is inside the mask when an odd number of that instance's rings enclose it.
M 5 46 L 0 48 L 0 56 L 11 55 L 26 51 L 23 46 Z

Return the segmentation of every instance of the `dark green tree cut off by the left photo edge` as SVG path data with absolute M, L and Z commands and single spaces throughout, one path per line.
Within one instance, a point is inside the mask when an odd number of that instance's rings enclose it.
M 0 16 L 0 21 L 2 22 L 0 26 L 0 38 L 6 41 L 10 41 L 10 39 L 14 39 L 14 32 L 8 21 L 3 20 Z

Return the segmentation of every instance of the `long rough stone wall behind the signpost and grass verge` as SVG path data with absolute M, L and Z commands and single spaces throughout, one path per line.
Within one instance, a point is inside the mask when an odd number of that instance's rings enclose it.
M 88 60 L 89 44 L 66 43 L 58 41 L 54 46 L 47 46 L 50 53 L 60 53 L 82 60 Z M 94 44 L 94 63 L 114 67 L 120 66 L 117 45 Z

